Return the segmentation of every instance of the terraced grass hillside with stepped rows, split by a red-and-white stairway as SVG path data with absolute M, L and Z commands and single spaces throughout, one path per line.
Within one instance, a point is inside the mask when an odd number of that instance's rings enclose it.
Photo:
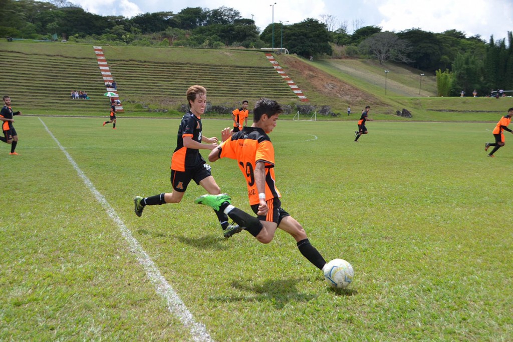
M 16 107 L 42 114 L 108 111 L 92 46 L 2 42 L 0 49 L 0 82 Z M 127 114 L 147 107 L 177 111 L 193 84 L 207 88 L 212 104 L 233 108 L 261 96 L 298 100 L 260 51 L 107 46 L 104 52 Z M 71 90 L 85 90 L 90 99 L 71 99 Z

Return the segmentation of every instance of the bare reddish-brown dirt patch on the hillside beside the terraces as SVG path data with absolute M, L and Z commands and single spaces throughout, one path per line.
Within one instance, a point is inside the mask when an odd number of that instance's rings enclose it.
M 333 100 L 334 97 L 337 100 L 336 102 L 339 102 L 338 105 L 330 103 L 327 103 L 327 105 L 341 109 L 348 105 L 355 107 L 355 109 L 356 107 L 360 108 L 366 105 L 387 107 L 386 104 L 368 92 L 348 85 L 339 78 L 317 69 L 296 57 L 282 55 L 279 57 L 279 62 L 285 72 L 303 89 L 307 96 L 308 91 L 314 91 L 326 96 L 327 100 L 329 98 Z

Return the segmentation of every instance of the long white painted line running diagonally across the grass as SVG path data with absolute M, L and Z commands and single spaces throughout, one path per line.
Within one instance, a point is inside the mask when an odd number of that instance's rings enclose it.
M 85 173 L 78 167 L 73 158 L 69 155 L 66 149 L 61 145 L 61 143 L 57 140 L 57 138 L 50 132 L 48 127 L 45 125 L 43 120 L 39 118 L 46 131 L 50 136 L 55 140 L 57 146 L 63 151 L 66 155 L 66 158 L 71 163 L 75 171 L 78 173 L 78 176 L 82 178 L 85 185 L 91 190 L 96 200 L 100 202 L 102 207 L 105 209 L 107 214 L 112 218 L 112 220 L 117 224 L 117 227 L 120 228 L 121 234 L 125 238 L 128 243 L 130 250 L 135 254 L 137 261 L 139 264 L 143 266 L 146 271 L 146 276 L 151 281 L 151 283 L 155 286 L 155 290 L 158 294 L 160 294 L 167 302 L 167 309 L 170 313 L 174 314 L 177 318 L 180 319 L 182 324 L 190 329 L 190 333 L 192 335 L 192 339 L 194 341 L 213 341 L 212 337 L 210 337 L 209 333 L 205 325 L 198 323 L 194 320 L 194 317 L 190 313 L 190 311 L 185 306 L 184 302 L 180 297 L 174 292 L 173 288 L 169 285 L 166 278 L 162 276 L 159 269 L 153 263 L 153 260 L 148 256 L 148 254 L 141 247 L 137 239 L 132 236 L 132 232 L 127 228 L 127 226 L 123 223 L 121 218 L 116 214 L 115 210 L 110 206 L 107 202 L 107 199 L 96 190 L 91 180 L 85 175 Z

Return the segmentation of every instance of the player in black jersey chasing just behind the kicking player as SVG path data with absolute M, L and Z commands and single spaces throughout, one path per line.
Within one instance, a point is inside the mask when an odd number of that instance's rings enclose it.
M 166 203 L 180 203 L 184 197 L 187 186 L 194 180 L 210 194 L 220 194 L 221 189 L 215 183 L 210 173 L 210 166 L 200 154 L 200 149 L 212 150 L 218 146 L 218 138 L 207 138 L 203 136 L 203 125 L 201 114 L 207 107 L 207 90 L 202 86 L 192 86 L 186 92 L 190 109 L 182 117 L 176 148 L 171 159 L 171 185 L 172 193 L 161 193 L 159 195 L 134 198 L 135 214 L 141 216 L 145 206 L 162 205 Z M 206 144 L 202 144 L 202 143 Z M 237 225 L 228 225 L 228 216 L 225 213 L 215 210 L 218 216 L 225 237 L 230 237 L 235 232 L 240 232 Z

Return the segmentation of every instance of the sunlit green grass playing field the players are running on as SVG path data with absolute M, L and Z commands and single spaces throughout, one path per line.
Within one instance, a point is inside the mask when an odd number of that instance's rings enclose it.
M 281 231 L 223 239 L 194 184 L 136 217 L 135 195 L 171 190 L 179 120 L 102 122 L 16 117 L 20 155 L 0 144 L 0 340 L 513 340 L 513 137 L 487 158 L 494 124 L 370 122 L 355 144 L 354 122 L 278 122 L 283 207 L 355 270 L 334 291 Z M 212 170 L 249 210 L 236 163 Z

